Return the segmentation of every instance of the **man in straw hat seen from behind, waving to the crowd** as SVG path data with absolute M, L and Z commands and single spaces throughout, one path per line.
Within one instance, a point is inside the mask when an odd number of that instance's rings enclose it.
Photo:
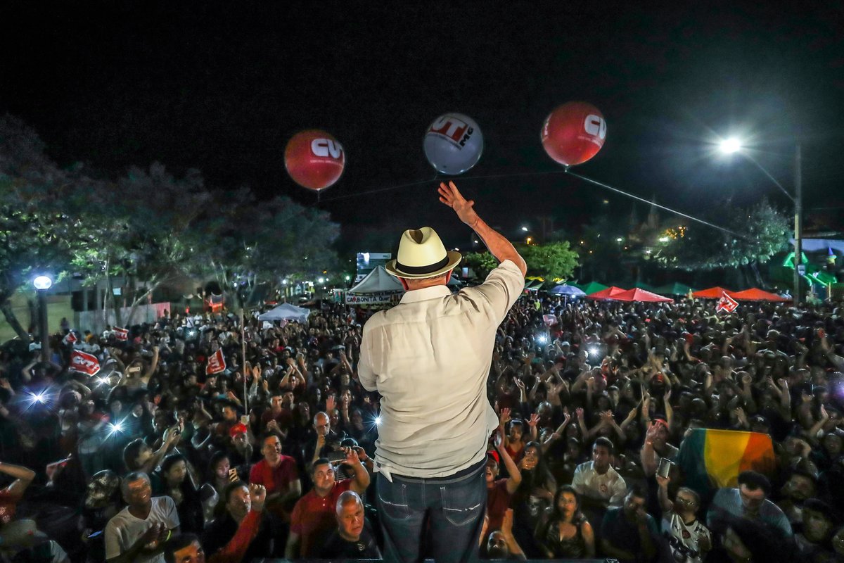
M 384 560 L 419 560 L 426 517 L 438 563 L 478 559 L 484 523 L 484 461 L 498 426 L 486 396 L 495 331 L 524 289 L 527 265 L 486 225 L 453 182 L 440 201 L 470 226 L 500 262 L 484 284 L 452 295 L 460 263 L 430 227 L 404 231 L 387 272 L 406 293 L 364 326 L 358 371 L 381 393 L 376 441 Z

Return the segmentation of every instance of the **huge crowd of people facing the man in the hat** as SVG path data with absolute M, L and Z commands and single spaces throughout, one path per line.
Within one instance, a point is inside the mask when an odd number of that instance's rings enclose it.
M 844 560 L 842 311 L 522 296 L 490 362 L 482 556 Z M 0 556 L 379 558 L 363 321 L 325 304 L 241 336 L 226 312 L 173 314 L 126 340 L 64 328 L 50 362 L 3 347 Z M 100 371 L 71 371 L 74 349 Z M 691 483 L 695 429 L 769 435 L 776 463 Z

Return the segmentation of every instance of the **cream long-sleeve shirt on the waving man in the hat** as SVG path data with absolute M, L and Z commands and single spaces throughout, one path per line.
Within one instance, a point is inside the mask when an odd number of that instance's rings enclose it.
M 495 331 L 522 290 L 506 260 L 479 286 L 408 291 L 366 322 L 358 375 L 382 396 L 376 471 L 446 477 L 484 458 L 498 425 L 486 395 Z

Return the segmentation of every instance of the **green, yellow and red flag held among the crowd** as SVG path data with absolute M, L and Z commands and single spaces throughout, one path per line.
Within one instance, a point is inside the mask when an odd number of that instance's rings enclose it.
M 738 474 L 753 469 L 771 476 L 776 469 L 771 436 L 737 430 L 691 430 L 677 457 L 684 483 L 701 495 L 715 487 L 734 487 Z

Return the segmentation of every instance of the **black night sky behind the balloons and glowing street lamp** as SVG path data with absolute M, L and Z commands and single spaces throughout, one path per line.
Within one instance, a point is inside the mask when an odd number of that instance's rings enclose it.
M 6 0 L 0 111 L 35 127 L 62 165 L 198 168 L 212 187 L 318 205 L 350 236 L 433 225 L 459 246 L 468 232 L 437 202 L 422 152 L 430 122 L 446 111 L 479 122 L 484 154 L 464 176 L 555 172 L 539 129 L 555 106 L 585 100 L 608 131 L 576 167 L 584 176 L 691 214 L 762 196 L 787 209 L 754 165 L 711 143 L 752 138 L 791 189 L 800 138 L 807 215 L 840 219 L 813 208 L 844 205 L 841 3 L 636 4 Z M 285 143 L 310 127 L 347 155 L 320 203 L 284 170 Z M 590 214 L 630 214 L 629 200 L 559 173 L 461 178 L 510 236 L 539 215 L 574 236 Z

